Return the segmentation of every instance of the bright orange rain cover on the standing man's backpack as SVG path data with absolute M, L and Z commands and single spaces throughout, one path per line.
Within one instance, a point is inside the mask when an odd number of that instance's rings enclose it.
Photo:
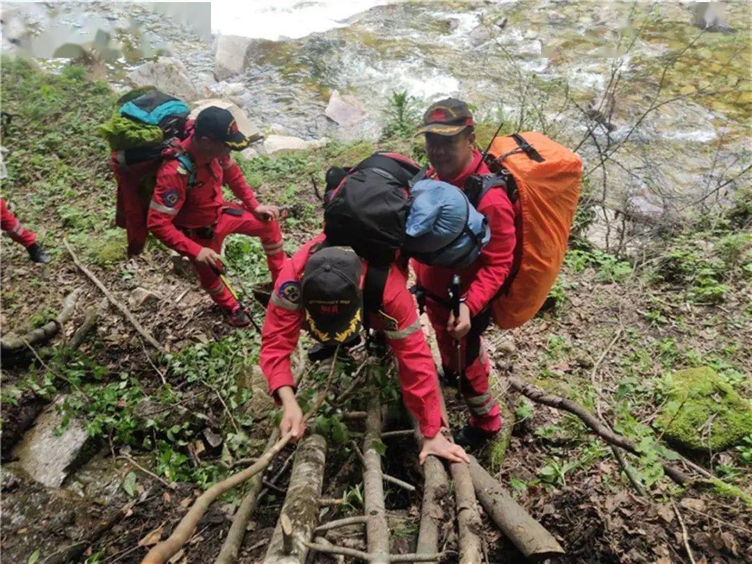
M 518 140 L 539 157 L 521 150 Z M 559 274 L 580 197 L 582 161 L 536 132 L 497 138 L 489 154 L 496 159 L 494 168 L 506 168 L 514 177 L 522 210 L 520 268 L 508 293 L 492 305 L 496 325 L 511 329 L 538 313 Z

